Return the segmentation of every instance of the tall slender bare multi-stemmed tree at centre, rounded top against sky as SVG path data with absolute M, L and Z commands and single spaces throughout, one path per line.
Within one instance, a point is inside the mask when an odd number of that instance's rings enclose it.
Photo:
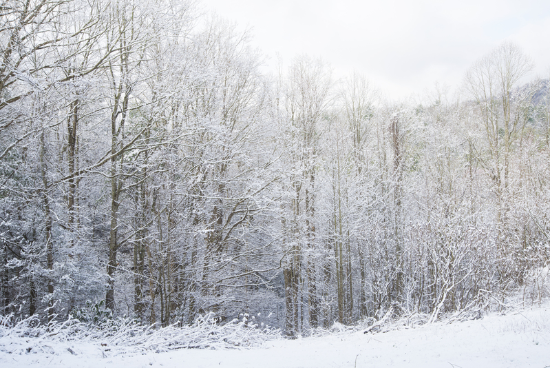
M 286 326 L 289 334 L 299 334 L 302 320 L 317 327 L 317 161 L 321 147 L 321 121 L 324 119 L 330 88 L 330 72 L 321 61 L 307 57 L 295 59 L 288 74 L 284 95 L 286 132 L 290 143 L 289 172 L 290 218 L 284 269 L 286 287 Z M 305 267 L 305 272 L 304 272 Z M 305 275 L 304 275 L 305 274 Z M 304 289 L 302 280 L 307 280 Z M 308 316 L 302 309 L 306 297 Z

